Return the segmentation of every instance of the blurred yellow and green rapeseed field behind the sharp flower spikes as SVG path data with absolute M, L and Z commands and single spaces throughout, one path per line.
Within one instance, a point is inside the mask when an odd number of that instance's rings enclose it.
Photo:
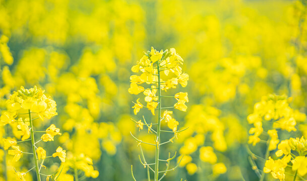
M 190 80 L 184 90 L 168 93 L 188 92 L 188 111 L 174 115 L 178 129 L 189 129 L 161 155 L 189 157 L 163 180 L 258 180 L 246 149 L 247 116 L 272 93 L 293 97 L 290 106 L 307 112 L 305 19 L 305 1 L 1 0 L 0 109 L 21 85 L 42 87 L 58 112 L 45 123 L 63 133 L 52 144 L 88 155 L 99 171 L 85 180 L 132 180 L 131 164 L 137 180 L 146 180 L 130 132 L 152 137 L 130 120 L 141 118 L 133 114 L 136 97 L 128 93 L 131 67 L 151 46 L 175 48 Z M 155 122 L 150 112 L 141 113 Z M 304 121 L 293 136 L 307 136 Z M 214 148 L 226 172 L 200 158 L 203 146 Z M 249 147 L 264 155 L 265 145 Z M 143 149 L 153 159 L 154 149 Z M 0 171 L 6 167 L 8 180 L 19 180 L 13 167 L 26 171 L 32 163 L 26 156 L 13 163 L 12 157 L 0 150 Z M 56 160 L 46 164 L 46 172 L 59 166 Z M 65 170 L 60 180 L 72 180 L 70 173 Z M 36 180 L 31 174 L 27 180 Z

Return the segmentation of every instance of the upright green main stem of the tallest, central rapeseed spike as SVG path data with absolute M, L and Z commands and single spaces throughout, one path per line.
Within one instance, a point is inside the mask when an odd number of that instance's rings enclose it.
M 158 69 L 158 126 L 157 126 L 157 146 L 156 146 L 156 157 L 155 157 L 155 177 L 154 181 L 159 180 L 159 144 L 160 144 L 160 127 L 161 127 L 161 82 L 160 82 L 160 65 L 157 62 Z

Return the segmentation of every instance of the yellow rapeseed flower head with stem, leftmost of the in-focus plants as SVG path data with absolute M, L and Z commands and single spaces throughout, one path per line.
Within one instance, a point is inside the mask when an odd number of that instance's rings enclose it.
M 15 162 L 18 161 L 23 154 L 33 155 L 35 165 L 33 168 L 36 170 L 37 179 L 40 180 L 38 160 L 42 160 L 40 163 L 42 166 L 44 159 L 48 157 L 58 157 L 62 162 L 65 162 L 66 158 L 66 150 L 63 150 L 60 146 L 52 156 L 46 156 L 46 150 L 41 146 L 37 146 L 41 140 L 44 142 L 53 141 L 55 135 L 61 135 L 59 128 L 51 124 L 45 131 L 37 131 L 34 130 L 33 126 L 34 120 L 40 119 L 43 121 L 44 118 L 49 119 L 57 115 L 56 103 L 50 97 L 46 97 L 41 88 L 34 86 L 33 88 L 25 89 L 21 86 L 17 92 L 14 92 L 10 96 L 6 105 L 7 110 L 2 112 L 0 123 L 2 126 L 10 124 L 15 137 L 21 139 L 21 141 L 17 141 L 16 138 L 11 137 L 3 138 L 4 149 L 7 150 L 10 147 L 12 148 L 8 150 L 8 154 L 14 156 L 13 161 Z M 36 118 L 32 118 L 34 116 L 36 116 Z M 41 136 L 40 140 L 35 142 L 34 133 L 45 134 Z M 21 146 L 17 145 L 18 143 L 22 144 L 23 142 L 29 141 L 31 141 L 32 153 L 23 151 Z M 25 174 L 26 172 L 17 172 L 21 180 L 24 179 Z

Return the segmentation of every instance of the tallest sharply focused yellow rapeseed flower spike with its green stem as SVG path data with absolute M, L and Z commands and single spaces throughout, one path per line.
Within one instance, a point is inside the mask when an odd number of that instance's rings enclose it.
M 154 181 L 161 180 L 159 178 L 159 172 L 165 172 L 169 170 L 161 171 L 159 170 L 159 150 L 160 145 L 173 142 L 173 139 L 177 135 L 177 126 L 179 125 L 179 122 L 176 121 L 174 118 L 172 118 L 172 111 L 164 111 L 162 115 L 162 109 L 166 108 L 175 108 L 180 111 L 187 111 L 187 106 L 185 103 L 189 102 L 188 99 L 188 93 L 182 93 L 179 92 L 174 96 L 162 96 L 161 90 L 167 92 L 171 88 L 176 88 L 177 84 L 180 83 L 182 87 L 187 86 L 189 75 L 187 73 L 182 73 L 182 68 L 180 65 L 183 63 L 183 59 L 176 53 L 176 50 L 174 48 L 171 48 L 170 51 L 168 50 L 161 50 L 157 51 L 153 47 L 151 47 L 150 51 L 147 51 L 144 53 L 145 55 L 137 61 L 137 65 L 134 65 L 131 70 L 135 73 L 141 73 L 141 75 L 131 75 L 130 76 L 130 88 L 128 89 L 128 92 L 133 95 L 138 95 L 141 92 L 144 94 L 144 100 L 147 103 L 146 108 L 152 113 L 153 116 L 155 116 L 156 112 L 158 112 L 158 118 L 157 123 L 155 124 L 147 124 L 144 118 L 143 123 L 141 120 L 136 122 L 137 127 L 139 128 L 139 131 L 143 129 L 144 125 L 148 128 L 148 134 L 156 134 L 155 139 L 152 143 L 146 143 L 141 141 L 140 139 L 133 136 L 138 142 L 139 145 L 142 144 L 149 144 L 155 146 L 155 168 L 154 168 Z M 162 80 L 161 78 L 161 72 L 164 73 L 167 77 L 166 80 Z M 139 84 L 147 83 L 151 84 L 150 86 L 147 85 L 147 87 L 140 86 Z M 175 98 L 177 100 L 177 103 L 173 107 L 165 107 L 162 108 L 161 102 L 163 97 L 170 97 Z M 168 99 L 168 98 L 167 98 Z M 142 109 L 144 106 L 139 102 L 140 98 L 137 99 L 137 103 L 134 103 L 134 114 L 136 115 L 140 109 Z M 170 132 L 174 133 L 174 136 L 172 138 L 168 138 L 169 141 L 161 143 L 160 133 L 161 133 L 161 121 L 164 120 L 167 123 L 168 128 L 171 130 Z M 153 125 L 157 126 L 157 129 L 153 129 Z M 167 131 L 169 132 L 169 131 Z M 143 155 L 143 152 L 142 152 Z M 145 157 L 143 155 L 143 161 L 145 161 Z M 167 162 L 169 162 L 168 160 Z M 144 165 L 144 163 L 142 162 Z M 169 165 L 169 163 L 167 163 Z M 178 163 L 179 164 L 179 163 Z M 148 180 L 150 180 L 150 173 L 149 168 L 153 170 L 149 165 L 144 165 L 147 167 L 148 172 Z M 177 165 L 178 166 L 178 165 Z M 176 168 L 175 166 L 174 168 Z M 172 169 L 174 169 L 172 168 Z M 167 168 L 168 169 L 168 168 Z

